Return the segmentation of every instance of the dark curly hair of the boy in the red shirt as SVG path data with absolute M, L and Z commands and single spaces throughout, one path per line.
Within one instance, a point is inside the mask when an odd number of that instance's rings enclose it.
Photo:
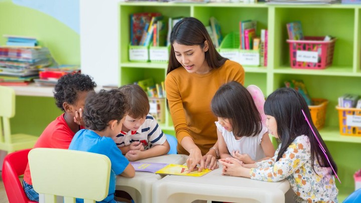
M 56 105 L 62 111 L 65 111 L 63 108 L 64 102 L 75 104 L 79 92 L 92 91 L 94 87 L 96 87 L 96 83 L 89 75 L 80 73 L 63 75 L 54 88 Z

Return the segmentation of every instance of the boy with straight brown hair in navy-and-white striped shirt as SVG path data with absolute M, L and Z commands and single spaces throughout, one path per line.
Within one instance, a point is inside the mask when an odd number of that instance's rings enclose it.
M 136 84 L 121 86 L 119 90 L 130 106 L 121 131 L 114 138 L 125 157 L 135 161 L 166 154 L 170 146 L 157 121 L 148 114 L 149 100 L 145 91 Z

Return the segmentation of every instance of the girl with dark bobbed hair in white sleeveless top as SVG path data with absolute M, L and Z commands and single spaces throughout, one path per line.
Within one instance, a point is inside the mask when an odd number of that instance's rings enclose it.
M 264 100 L 264 98 L 263 98 Z M 235 157 L 243 163 L 271 158 L 275 152 L 268 129 L 250 92 L 237 81 L 222 85 L 211 101 L 221 158 Z

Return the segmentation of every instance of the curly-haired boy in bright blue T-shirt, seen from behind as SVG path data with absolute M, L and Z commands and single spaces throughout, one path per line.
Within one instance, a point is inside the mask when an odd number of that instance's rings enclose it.
M 101 202 L 115 202 L 115 175 L 120 174 L 125 177 L 135 175 L 133 166 L 112 139 L 120 131 L 127 110 L 127 100 L 118 89 L 90 93 L 83 112 L 87 129 L 79 130 L 69 145 L 69 149 L 100 153 L 109 157 L 111 162 L 109 193 Z M 77 199 L 78 201 L 80 200 Z

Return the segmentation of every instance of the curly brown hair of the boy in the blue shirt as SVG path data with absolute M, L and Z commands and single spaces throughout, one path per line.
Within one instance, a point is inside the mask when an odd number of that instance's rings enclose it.
M 89 92 L 83 112 L 85 126 L 88 129 L 101 131 L 108 126 L 110 120 L 123 119 L 129 109 L 125 95 L 119 89 Z

